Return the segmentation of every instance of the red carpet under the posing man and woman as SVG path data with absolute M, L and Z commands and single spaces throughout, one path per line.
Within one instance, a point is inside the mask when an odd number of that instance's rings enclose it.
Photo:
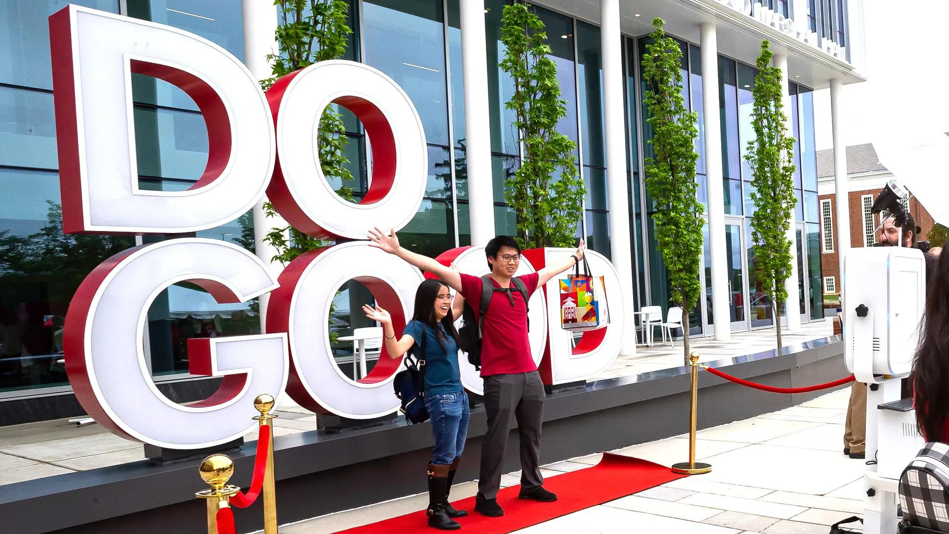
M 501 517 L 485 517 L 474 511 L 474 497 L 455 501 L 458 509 L 469 511 L 467 517 L 456 519 L 461 524 L 460 532 L 477 534 L 502 534 L 531 524 L 544 523 L 551 519 L 573 513 L 590 506 L 638 493 L 644 489 L 660 486 L 687 475 L 673 473 L 663 467 L 639 458 L 604 453 L 599 464 L 548 478 L 544 487 L 558 495 L 555 503 L 537 503 L 517 498 L 520 486 L 504 487 L 497 495 L 497 504 L 504 508 Z M 379 523 L 366 524 L 342 531 L 347 534 L 432 534 L 425 511 L 412 512 Z

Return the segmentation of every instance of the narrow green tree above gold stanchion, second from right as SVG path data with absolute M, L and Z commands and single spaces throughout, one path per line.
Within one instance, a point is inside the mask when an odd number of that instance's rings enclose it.
M 645 99 L 652 126 L 653 155 L 646 158 L 646 190 L 655 203 L 652 216 L 656 242 L 665 262 L 670 299 L 682 308 L 683 350 L 688 359 L 689 311 L 698 302 L 698 258 L 702 253 L 702 204 L 696 191 L 698 114 L 689 112 L 682 97 L 682 50 L 666 37 L 665 21 L 653 19 L 651 42 L 642 56 Z M 727 322 L 725 323 L 727 325 Z

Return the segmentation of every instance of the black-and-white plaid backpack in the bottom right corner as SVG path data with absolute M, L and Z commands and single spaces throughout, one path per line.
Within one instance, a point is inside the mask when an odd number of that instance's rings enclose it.
M 900 476 L 900 532 L 949 533 L 949 445 L 927 443 Z

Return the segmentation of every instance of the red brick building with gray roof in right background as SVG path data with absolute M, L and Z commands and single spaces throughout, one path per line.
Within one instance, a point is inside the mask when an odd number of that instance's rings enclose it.
M 840 295 L 840 262 L 837 256 L 837 200 L 833 177 L 833 150 L 817 151 L 817 192 L 821 219 L 821 270 L 825 298 Z M 850 208 L 850 246 L 872 245 L 877 238 L 873 231 L 880 224 L 880 215 L 872 215 L 870 207 L 887 181 L 895 178 L 884 167 L 873 144 L 847 146 L 847 185 Z M 920 238 L 925 239 L 934 221 L 922 204 L 909 200 L 909 212 L 921 227 Z M 833 298 L 829 298 L 833 300 Z

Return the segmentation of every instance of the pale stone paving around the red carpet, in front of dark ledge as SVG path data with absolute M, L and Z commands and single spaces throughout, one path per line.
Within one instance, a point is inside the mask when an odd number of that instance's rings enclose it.
M 713 470 L 537 524 L 523 534 L 662 532 L 665 534 L 827 534 L 829 525 L 863 512 L 863 461 L 842 453 L 849 390 L 800 406 L 698 432 L 698 459 Z M 614 452 L 671 465 L 687 459 L 677 436 Z M 583 469 L 600 454 L 545 466 L 546 477 Z M 515 485 L 519 472 L 504 475 Z M 474 495 L 476 483 L 452 489 Z M 408 496 L 281 527 L 284 534 L 323 534 L 370 524 L 427 505 Z M 463 530 L 462 530 L 463 531 Z

